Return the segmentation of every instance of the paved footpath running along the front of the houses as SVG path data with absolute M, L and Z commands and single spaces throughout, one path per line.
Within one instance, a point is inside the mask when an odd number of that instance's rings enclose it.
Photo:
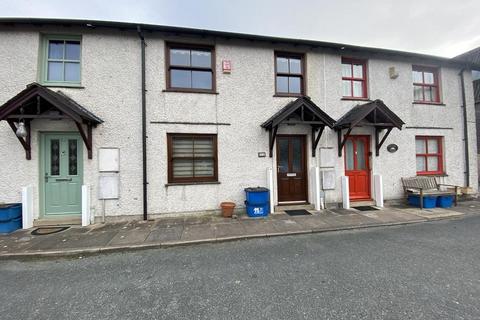
M 480 213 L 480 202 L 464 201 L 457 207 L 420 210 L 406 206 L 375 211 L 331 209 L 308 216 L 275 213 L 266 218 L 236 219 L 219 216 L 184 216 L 151 221 L 72 226 L 50 235 L 32 235 L 18 230 L 0 235 L 0 258 L 80 255 L 118 250 L 170 247 L 247 238 L 307 234 L 346 229 L 420 223 L 460 218 Z

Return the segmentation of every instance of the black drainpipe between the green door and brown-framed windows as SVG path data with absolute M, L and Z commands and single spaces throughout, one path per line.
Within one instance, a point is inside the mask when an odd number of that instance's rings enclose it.
M 142 156 L 143 156 L 143 220 L 147 220 L 147 103 L 145 89 L 145 37 L 140 26 L 137 26 L 138 36 L 141 40 L 142 48 Z

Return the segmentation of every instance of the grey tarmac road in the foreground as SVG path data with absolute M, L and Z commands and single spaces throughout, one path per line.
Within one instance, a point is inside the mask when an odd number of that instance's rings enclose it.
M 0 318 L 480 319 L 479 230 L 480 215 L 467 214 L 394 227 L 0 260 Z

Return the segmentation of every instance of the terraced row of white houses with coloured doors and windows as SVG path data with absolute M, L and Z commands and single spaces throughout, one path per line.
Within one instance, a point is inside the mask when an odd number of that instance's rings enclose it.
M 80 20 L 2 19 L 0 43 L 0 201 L 35 223 L 477 191 L 473 63 Z

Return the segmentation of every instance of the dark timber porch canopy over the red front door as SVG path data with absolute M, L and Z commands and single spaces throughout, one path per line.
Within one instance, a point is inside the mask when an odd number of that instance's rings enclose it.
M 342 149 L 354 127 L 375 128 L 375 156 L 380 154 L 380 148 L 393 128 L 402 130 L 405 122 L 402 121 L 382 100 L 375 100 L 356 105 L 335 123 L 338 134 L 338 156 L 342 156 Z M 347 130 L 342 139 L 342 131 Z M 387 130 L 380 139 L 380 132 Z

